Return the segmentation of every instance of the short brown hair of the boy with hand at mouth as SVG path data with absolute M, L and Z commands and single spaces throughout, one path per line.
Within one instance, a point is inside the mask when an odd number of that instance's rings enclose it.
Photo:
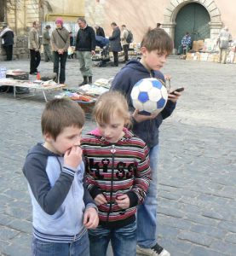
M 68 126 L 82 128 L 85 122 L 83 109 L 78 103 L 69 99 L 54 99 L 47 102 L 41 117 L 43 135 L 49 134 L 56 137 Z

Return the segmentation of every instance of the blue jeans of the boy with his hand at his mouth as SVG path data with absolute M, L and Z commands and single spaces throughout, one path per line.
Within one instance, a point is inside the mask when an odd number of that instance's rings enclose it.
M 71 243 L 41 241 L 33 237 L 32 256 L 89 256 L 88 233 Z

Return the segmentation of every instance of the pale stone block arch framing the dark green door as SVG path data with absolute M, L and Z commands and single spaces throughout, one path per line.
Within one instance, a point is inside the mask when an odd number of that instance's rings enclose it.
M 210 15 L 210 38 L 216 38 L 222 29 L 222 20 L 214 0 L 170 0 L 169 6 L 164 10 L 164 30 L 174 39 L 176 15 L 187 3 L 199 3 L 204 6 Z

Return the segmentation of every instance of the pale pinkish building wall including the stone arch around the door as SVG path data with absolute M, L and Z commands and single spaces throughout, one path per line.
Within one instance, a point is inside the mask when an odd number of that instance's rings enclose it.
M 164 30 L 173 37 L 177 12 L 187 3 L 199 3 L 210 14 L 210 36 L 216 37 L 222 26 L 228 26 L 233 38 L 236 38 L 234 22 L 235 0 L 85 0 L 85 17 L 91 24 L 100 23 L 106 35 L 112 33 L 111 22 L 118 26 L 125 24 L 134 34 L 135 42 L 157 22 L 164 23 Z

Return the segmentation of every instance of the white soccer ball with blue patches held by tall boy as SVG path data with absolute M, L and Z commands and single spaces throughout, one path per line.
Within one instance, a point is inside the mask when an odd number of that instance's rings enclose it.
M 132 91 L 131 99 L 135 109 L 140 113 L 160 113 L 168 98 L 168 93 L 164 84 L 158 79 L 148 78 L 138 81 Z

